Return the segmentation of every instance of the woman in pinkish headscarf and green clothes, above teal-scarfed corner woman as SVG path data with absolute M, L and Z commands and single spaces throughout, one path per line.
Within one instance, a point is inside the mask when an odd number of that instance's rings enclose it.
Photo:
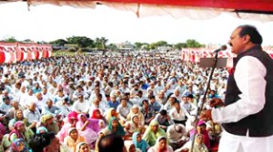
M 16 138 L 23 138 L 25 146 L 28 147 L 28 142 L 34 135 L 34 132 L 30 128 L 25 128 L 23 121 L 17 121 L 15 123 L 15 129 L 9 133 L 9 140 L 13 141 Z

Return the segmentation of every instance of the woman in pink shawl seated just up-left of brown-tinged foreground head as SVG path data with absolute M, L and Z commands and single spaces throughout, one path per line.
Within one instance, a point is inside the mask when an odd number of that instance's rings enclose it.
M 86 115 L 79 114 L 77 116 L 76 128 L 81 136 L 86 138 L 89 147 L 94 147 L 97 139 L 97 133 L 100 131 L 98 119 L 87 119 Z

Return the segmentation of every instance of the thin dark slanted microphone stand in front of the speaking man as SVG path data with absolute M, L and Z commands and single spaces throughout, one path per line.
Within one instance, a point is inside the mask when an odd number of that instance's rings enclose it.
M 195 126 L 194 126 L 194 135 L 193 135 L 193 138 L 192 138 L 192 144 L 191 144 L 191 149 L 190 149 L 190 152 L 193 152 L 193 147 L 195 145 L 195 140 L 196 140 L 196 134 L 197 134 L 197 123 L 199 121 L 199 118 L 198 116 L 200 115 L 203 107 L 204 107 L 204 104 L 205 104 L 205 101 L 206 101 L 206 96 L 207 96 L 207 90 L 210 88 L 210 81 L 212 80 L 212 75 L 215 71 L 215 68 L 217 67 L 217 61 L 218 61 L 218 52 L 216 52 L 215 56 L 214 56 L 214 64 L 213 64 L 213 67 L 212 67 L 212 71 L 210 71 L 210 75 L 209 75 L 209 78 L 208 78 L 208 81 L 207 81 L 207 89 L 205 90 L 205 93 L 204 93 L 204 97 L 202 99 L 202 104 L 201 104 L 201 107 L 198 107 L 197 108 L 197 116 L 196 116 L 196 123 L 195 123 Z

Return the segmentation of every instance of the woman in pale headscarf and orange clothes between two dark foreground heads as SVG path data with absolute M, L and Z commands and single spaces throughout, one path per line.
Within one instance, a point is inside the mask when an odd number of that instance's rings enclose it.
M 86 139 L 78 134 L 76 128 L 69 128 L 68 136 L 65 138 L 64 144 L 69 147 L 72 152 L 76 152 L 76 145 L 81 142 L 86 142 Z

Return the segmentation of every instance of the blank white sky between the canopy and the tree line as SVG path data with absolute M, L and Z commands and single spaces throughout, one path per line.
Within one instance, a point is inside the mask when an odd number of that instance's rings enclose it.
M 104 5 L 96 9 L 70 6 L 38 5 L 27 10 L 25 3 L 0 5 L 0 39 L 14 36 L 17 40 L 54 41 L 56 39 L 104 36 L 109 43 L 183 43 L 196 39 L 200 43 L 227 43 L 230 33 L 240 24 L 254 24 L 264 38 L 273 45 L 273 22 L 259 23 L 239 20 L 227 14 L 206 21 L 169 15 L 137 18 L 136 14 L 114 10 Z

